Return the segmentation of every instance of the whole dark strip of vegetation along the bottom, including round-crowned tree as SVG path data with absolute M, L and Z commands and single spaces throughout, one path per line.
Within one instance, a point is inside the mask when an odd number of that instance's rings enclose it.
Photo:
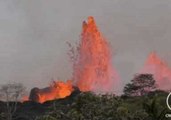
M 19 103 L 13 120 L 169 120 L 168 93 L 157 90 L 151 74 L 136 75 L 122 96 L 96 95 L 77 88 L 68 97 L 43 104 Z M 5 103 L 0 102 L 0 120 L 7 120 Z M 10 104 L 9 104 L 10 106 Z

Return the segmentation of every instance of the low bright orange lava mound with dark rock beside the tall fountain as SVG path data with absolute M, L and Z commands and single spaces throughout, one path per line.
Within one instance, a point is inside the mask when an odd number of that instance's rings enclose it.
M 30 93 L 30 100 L 43 103 L 48 100 L 54 100 L 59 98 L 65 98 L 69 96 L 73 91 L 71 81 L 66 83 L 62 81 L 53 82 L 50 87 L 44 89 L 34 88 Z

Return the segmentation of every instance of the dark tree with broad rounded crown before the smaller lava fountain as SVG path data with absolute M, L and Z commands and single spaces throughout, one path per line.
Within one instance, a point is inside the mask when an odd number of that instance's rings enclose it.
M 124 88 L 126 96 L 142 96 L 156 89 L 152 74 L 137 74 Z

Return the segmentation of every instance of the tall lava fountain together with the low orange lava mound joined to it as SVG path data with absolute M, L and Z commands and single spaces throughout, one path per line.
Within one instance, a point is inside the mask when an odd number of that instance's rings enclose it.
M 33 88 L 29 100 L 43 103 L 48 100 L 65 98 L 73 92 L 73 84 L 80 91 L 119 94 L 120 82 L 112 67 L 110 47 L 98 31 L 93 17 L 83 22 L 81 41 L 76 54 L 71 50 L 73 80 L 53 82 L 49 87 Z

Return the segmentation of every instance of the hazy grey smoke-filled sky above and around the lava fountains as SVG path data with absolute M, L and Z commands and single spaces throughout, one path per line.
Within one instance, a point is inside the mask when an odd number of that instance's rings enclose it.
M 171 0 L 0 0 L 0 84 L 69 79 L 66 42 L 79 40 L 90 15 L 111 43 L 123 83 L 151 51 L 171 66 Z

